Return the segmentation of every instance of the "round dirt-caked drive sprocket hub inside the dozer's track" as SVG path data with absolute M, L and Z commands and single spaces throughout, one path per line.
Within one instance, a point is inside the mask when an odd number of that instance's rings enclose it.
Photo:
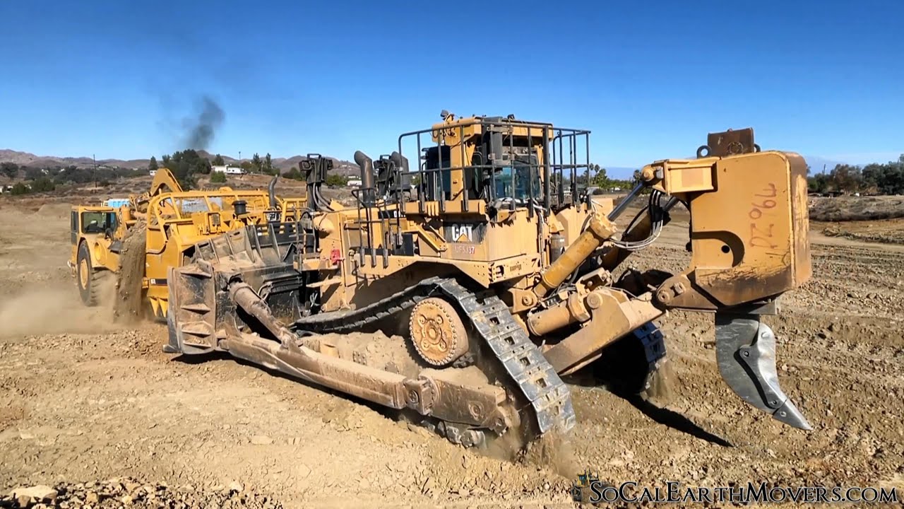
M 467 353 L 465 324 L 455 307 L 438 297 L 414 305 L 409 330 L 415 351 L 431 366 L 447 366 Z

